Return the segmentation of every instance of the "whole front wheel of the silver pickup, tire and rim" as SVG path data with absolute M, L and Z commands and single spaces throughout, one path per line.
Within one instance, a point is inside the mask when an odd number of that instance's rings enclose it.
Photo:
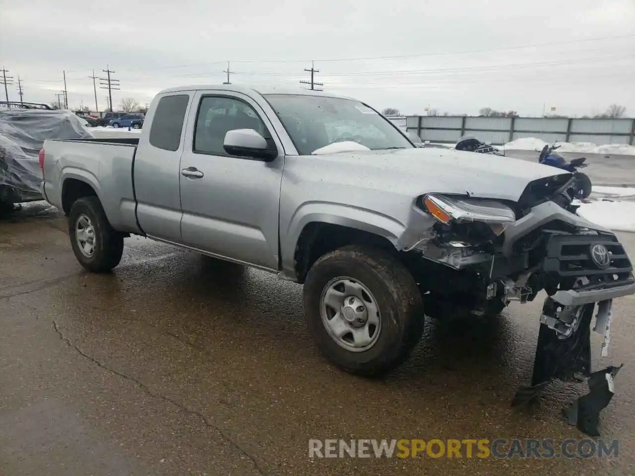
M 347 246 L 319 258 L 304 284 L 309 333 L 322 354 L 354 374 L 401 365 L 424 329 L 422 296 L 399 260 Z

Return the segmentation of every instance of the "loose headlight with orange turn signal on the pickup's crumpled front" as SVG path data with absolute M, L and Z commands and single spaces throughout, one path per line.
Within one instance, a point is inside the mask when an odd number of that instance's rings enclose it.
M 495 200 L 430 194 L 425 195 L 423 203 L 443 225 L 486 223 L 497 236 L 516 221 L 514 210 Z

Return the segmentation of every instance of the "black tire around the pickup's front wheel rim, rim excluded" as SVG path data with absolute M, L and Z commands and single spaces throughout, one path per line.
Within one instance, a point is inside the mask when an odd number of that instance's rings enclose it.
M 359 280 L 380 310 L 375 343 L 353 352 L 331 338 L 320 310 L 324 287 L 337 277 Z M 304 283 L 304 312 L 309 333 L 321 353 L 345 371 L 381 376 L 405 362 L 424 330 L 422 296 L 410 272 L 385 251 L 361 246 L 340 248 L 319 258 Z

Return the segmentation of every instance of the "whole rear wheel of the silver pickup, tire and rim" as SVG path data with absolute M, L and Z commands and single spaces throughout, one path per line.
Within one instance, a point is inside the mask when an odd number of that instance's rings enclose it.
M 123 235 L 110 226 L 95 196 L 78 199 L 70 208 L 69 236 L 77 261 L 89 271 L 110 271 L 121 261 Z

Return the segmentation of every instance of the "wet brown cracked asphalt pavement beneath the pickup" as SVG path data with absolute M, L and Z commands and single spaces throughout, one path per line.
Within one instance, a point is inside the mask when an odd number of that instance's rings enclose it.
M 625 363 L 601 417 L 617 459 L 315 459 L 309 439 L 582 439 L 559 412 L 585 392 L 528 382 L 542 299 L 500 319 L 429 321 L 384 380 L 315 350 L 301 288 L 132 237 L 112 274 L 87 274 L 55 209 L 0 221 L 0 475 L 632 475 L 635 298 L 615 303 Z M 635 235 L 620 234 L 631 256 Z M 578 390 L 579 389 L 579 390 Z

